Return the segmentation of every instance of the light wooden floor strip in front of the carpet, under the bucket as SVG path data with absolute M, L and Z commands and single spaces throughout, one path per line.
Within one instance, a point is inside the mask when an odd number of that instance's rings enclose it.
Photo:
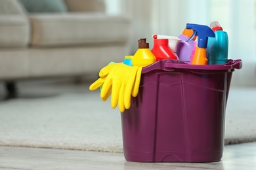
M 256 143 L 225 146 L 213 163 L 136 163 L 123 153 L 0 146 L 0 169 L 256 169 Z

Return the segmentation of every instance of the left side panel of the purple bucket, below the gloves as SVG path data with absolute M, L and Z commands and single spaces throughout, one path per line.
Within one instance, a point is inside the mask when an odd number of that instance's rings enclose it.
M 142 74 L 137 97 L 121 113 L 123 150 L 127 161 L 154 161 L 158 74 Z

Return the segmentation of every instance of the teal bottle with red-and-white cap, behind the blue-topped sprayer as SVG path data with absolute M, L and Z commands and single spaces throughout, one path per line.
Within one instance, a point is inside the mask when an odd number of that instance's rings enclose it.
M 210 27 L 215 33 L 215 39 L 208 39 L 208 64 L 225 64 L 228 60 L 228 34 L 217 21 L 211 22 Z

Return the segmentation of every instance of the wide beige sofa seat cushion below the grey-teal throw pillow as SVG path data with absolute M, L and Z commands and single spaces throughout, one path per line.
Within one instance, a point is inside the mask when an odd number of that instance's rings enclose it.
M 129 18 L 104 14 L 33 14 L 32 46 L 127 42 Z

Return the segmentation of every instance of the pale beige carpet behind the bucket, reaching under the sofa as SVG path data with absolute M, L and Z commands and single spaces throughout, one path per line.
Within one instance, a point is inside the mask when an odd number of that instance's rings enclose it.
M 123 151 L 119 110 L 89 92 L 89 84 L 23 82 L 19 88 L 18 99 L 0 101 L 0 145 Z M 256 87 L 230 89 L 226 144 L 256 141 L 255 99 Z

